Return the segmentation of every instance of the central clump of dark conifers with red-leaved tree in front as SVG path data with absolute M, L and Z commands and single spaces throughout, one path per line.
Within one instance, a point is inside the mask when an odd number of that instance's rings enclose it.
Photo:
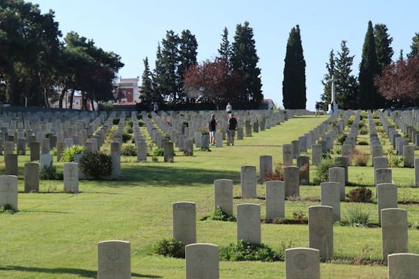
M 163 100 L 172 103 L 213 103 L 219 109 L 227 102 L 237 108 L 254 108 L 263 100 L 259 58 L 253 29 L 249 22 L 237 24 L 234 42 L 228 41 L 228 29 L 222 34 L 219 55 L 196 63 L 198 43 L 189 30 L 179 37 L 167 31 L 157 48 L 156 68 L 144 60 L 142 101 Z

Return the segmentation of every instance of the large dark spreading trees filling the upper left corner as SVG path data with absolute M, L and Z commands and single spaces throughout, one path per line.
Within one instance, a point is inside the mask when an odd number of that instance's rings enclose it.
M 78 33 L 61 41 L 54 12 L 42 14 L 37 4 L 23 0 L 0 2 L 0 101 L 10 105 L 45 106 L 69 91 L 87 100 L 114 100 L 113 82 L 124 63 Z M 59 92 L 59 93 L 58 93 Z M 93 105 L 92 105 L 93 107 Z

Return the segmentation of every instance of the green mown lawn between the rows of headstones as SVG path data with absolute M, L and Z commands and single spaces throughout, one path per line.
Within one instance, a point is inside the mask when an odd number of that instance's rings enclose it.
M 63 193 L 62 181 L 40 181 L 41 193 L 23 193 L 23 168 L 29 156 L 18 156 L 18 211 L 0 214 L 0 278 L 96 278 L 97 243 L 106 240 L 131 242 L 132 278 L 184 278 L 184 259 L 151 255 L 152 246 L 172 237 L 172 203 L 196 202 L 197 242 L 221 247 L 237 241 L 236 223 L 201 220 L 214 211 L 214 180 L 232 179 L 233 197 L 240 197 L 240 167 L 254 165 L 259 156 L 270 155 L 274 165 L 282 161 L 282 145 L 297 140 L 328 116 L 296 116 L 280 126 L 252 137 L 235 140 L 235 146 L 195 151 L 194 156 L 177 152 L 174 163 L 136 162 L 122 157 L 124 181 L 80 181 L 80 193 Z M 115 128 L 115 126 L 114 126 Z M 347 128 L 347 127 L 346 127 Z M 150 137 L 142 130 L 147 144 Z M 146 137 L 147 136 L 147 137 Z M 358 141 L 368 135 L 360 135 Z M 384 150 L 390 144 L 385 142 Z M 357 149 L 367 150 L 367 146 Z M 109 151 L 109 143 L 105 145 Z M 419 151 L 415 151 L 416 157 Z M 56 158 L 54 157 L 54 160 Z M 0 175 L 4 175 L 0 156 Z M 294 160 L 295 162 L 295 160 Z M 311 160 L 310 160 L 311 163 Z M 54 162 L 58 170 L 64 163 Z M 414 169 L 392 169 L 399 188 L 399 208 L 408 210 L 408 220 L 419 220 L 419 189 Z M 310 165 L 313 181 L 315 165 Z M 345 192 L 357 184 L 368 186 L 375 197 L 374 168 L 349 167 Z M 258 199 L 235 198 L 234 204 L 260 204 L 265 217 L 265 183 L 257 185 Z M 320 186 L 301 186 L 300 199 L 286 201 L 286 218 L 293 212 L 308 215 L 308 206 L 320 205 Z M 314 201 L 318 200 L 318 201 Z M 341 212 L 353 203 L 342 202 Z M 376 204 L 362 204 L 378 223 Z M 233 207 L 235 213 L 235 206 Z M 278 250 L 281 242 L 293 248 L 309 247 L 307 225 L 262 224 L 262 243 Z M 387 278 L 381 265 L 381 228 L 335 225 L 335 260 L 321 264 L 322 278 Z M 409 252 L 419 253 L 419 230 L 409 229 Z M 362 259 L 362 260 L 361 260 Z M 354 264 L 355 262 L 355 264 Z M 357 264 L 362 262 L 362 264 Z M 284 278 L 284 262 L 220 262 L 220 278 Z

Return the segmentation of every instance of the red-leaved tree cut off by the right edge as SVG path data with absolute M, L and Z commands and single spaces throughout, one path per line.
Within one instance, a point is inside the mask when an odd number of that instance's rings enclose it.
M 419 103 L 419 57 L 398 60 L 385 66 L 374 84 L 387 100 Z

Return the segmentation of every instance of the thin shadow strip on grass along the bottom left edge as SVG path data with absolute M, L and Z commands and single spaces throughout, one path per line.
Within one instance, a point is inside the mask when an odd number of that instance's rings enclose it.
M 8 266 L 8 267 L 1 267 L 0 270 L 3 271 L 24 271 L 24 272 L 31 272 L 31 273 L 52 273 L 52 274 L 74 274 L 80 276 L 80 278 L 98 278 L 97 271 L 89 271 L 86 269 L 41 269 L 38 267 L 26 267 L 26 266 Z M 131 273 L 131 277 L 133 278 L 162 278 L 161 276 L 153 276 L 153 275 L 143 275 L 138 273 Z

